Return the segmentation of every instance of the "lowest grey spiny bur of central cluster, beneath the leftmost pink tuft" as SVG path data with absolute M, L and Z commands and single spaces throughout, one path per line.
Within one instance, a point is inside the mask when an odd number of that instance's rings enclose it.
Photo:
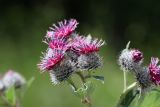
M 64 60 L 61 64 L 56 65 L 54 69 L 50 71 L 50 77 L 53 84 L 59 84 L 62 81 L 68 79 L 70 75 L 75 72 L 76 68 L 70 60 Z

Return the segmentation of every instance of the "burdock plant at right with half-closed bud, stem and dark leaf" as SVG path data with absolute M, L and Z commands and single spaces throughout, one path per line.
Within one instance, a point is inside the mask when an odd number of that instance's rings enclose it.
M 146 93 L 160 85 L 160 66 L 158 58 L 151 58 L 148 66 L 143 66 L 143 53 L 138 49 L 129 48 L 130 42 L 119 55 L 118 64 L 124 73 L 124 91 L 120 96 L 117 107 L 128 107 L 139 95 L 139 104 Z M 126 73 L 135 77 L 135 82 L 127 86 Z

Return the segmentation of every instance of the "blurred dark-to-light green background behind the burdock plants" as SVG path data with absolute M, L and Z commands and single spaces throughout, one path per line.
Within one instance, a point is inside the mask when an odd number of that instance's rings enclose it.
M 27 79 L 35 77 L 22 107 L 84 106 L 67 84 L 52 85 L 36 65 L 47 47 L 42 40 L 48 27 L 70 18 L 80 23 L 80 34 L 107 42 L 100 52 L 104 66 L 96 71 L 105 77 L 105 84 L 94 81 L 94 107 L 116 105 L 123 90 L 117 57 L 129 40 L 131 47 L 144 52 L 146 65 L 151 56 L 160 57 L 159 0 L 0 0 L 0 71 L 13 69 Z M 129 83 L 133 79 L 129 75 Z

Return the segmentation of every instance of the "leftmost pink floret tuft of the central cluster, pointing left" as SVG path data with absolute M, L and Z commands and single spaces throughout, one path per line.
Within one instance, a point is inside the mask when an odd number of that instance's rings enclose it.
M 54 66 L 60 63 L 64 58 L 64 52 L 62 50 L 47 49 L 46 54 L 41 59 L 40 64 L 38 64 L 41 71 L 52 70 Z

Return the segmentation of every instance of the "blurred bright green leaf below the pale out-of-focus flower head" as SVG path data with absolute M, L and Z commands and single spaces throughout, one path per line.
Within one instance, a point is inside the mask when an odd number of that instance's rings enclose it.
M 14 86 L 13 87 L 10 87 L 6 93 L 6 99 L 7 101 L 11 104 L 11 105 L 15 105 L 16 104 L 16 92 L 15 92 L 15 88 Z

